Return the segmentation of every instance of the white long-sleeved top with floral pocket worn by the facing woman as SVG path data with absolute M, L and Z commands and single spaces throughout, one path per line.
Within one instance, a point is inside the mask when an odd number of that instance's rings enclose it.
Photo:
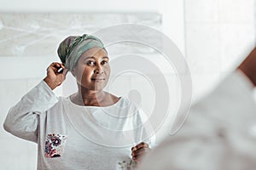
M 113 170 L 132 167 L 132 146 L 154 142 L 144 119 L 126 98 L 107 107 L 75 105 L 42 81 L 9 110 L 3 127 L 38 144 L 39 170 Z

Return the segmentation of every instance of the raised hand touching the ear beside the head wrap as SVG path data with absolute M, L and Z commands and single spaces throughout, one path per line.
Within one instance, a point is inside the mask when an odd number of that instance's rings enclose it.
M 62 71 L 58 72 L 61 68 Z M 57 86 L 60 86 L 61 83 L 65 80 L 67 71 L 68 70 L 65 69 L 64 65 L 57 62 L 53 62 L 47 68 L 47 76 L 44 78 L 44 82 L 46 82 L 49 88 L 53 90 Z

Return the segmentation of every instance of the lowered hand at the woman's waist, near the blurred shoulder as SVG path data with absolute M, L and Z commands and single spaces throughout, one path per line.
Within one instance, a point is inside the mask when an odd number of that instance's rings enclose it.
M 131 148 L 131 157 L 133 161 L 140 162 L 148 151 L 151 150 L 148 144 L 141 142 Z

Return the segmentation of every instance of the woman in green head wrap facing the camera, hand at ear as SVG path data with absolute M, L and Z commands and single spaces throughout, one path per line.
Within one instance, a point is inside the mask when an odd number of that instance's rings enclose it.
M 148 129 L 128 99 L 103 91 L 110 66 L 102 41 L 67 37 L 58 55 L 62 64 L 49 65 L 44 81 L 9 110 L 4 129 L 38 144 L 38 169 L 131 168 L 150 150 L 150 139 L 142 142 Z M 52 90 L 67 71 L 76 78 L 78 92 L 56 97 Z

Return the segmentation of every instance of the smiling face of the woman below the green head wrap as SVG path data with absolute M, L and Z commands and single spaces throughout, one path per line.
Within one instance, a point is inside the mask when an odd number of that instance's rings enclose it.
M 106 87 L 110 75 L 108 54 L 102 48 L 88 49 L 81 55 L 72 73 L 83 88 L 102 90 Z

